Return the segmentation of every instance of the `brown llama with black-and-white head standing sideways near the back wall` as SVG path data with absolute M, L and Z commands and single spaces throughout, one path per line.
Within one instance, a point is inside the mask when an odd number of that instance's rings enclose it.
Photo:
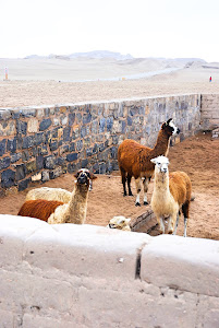
M 148 184 L 155 171 L 151 159 L 159 155 L 167 155 L 169 152 L 170 137 L 180 133 L 174 126 L 172 118 L 163 122 L 157 137 L 157 142 L 153 149 L 141 145 L 138 142 L 126 139 L 118 149 L 118 163 L 122 176 L 123 196 L 126 196 L 125 181 L 127 181 L 129 196 L 133 196 L 131 190 L 131 178 L 134 176 L 137 190 L 135 206 L 139 204 L 141 180 L 144 186 L 144 204 L 147 202 Z

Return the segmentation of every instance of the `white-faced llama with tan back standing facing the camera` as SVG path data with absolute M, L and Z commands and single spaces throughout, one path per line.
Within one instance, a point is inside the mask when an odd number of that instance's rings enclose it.
M 165 233 L 163 220 L 169 216 L 168 233 L 177 234 L 179 213 L 182 211 L 184 215 L 184 237 L 186 237 L 192 194 L 191 179 L 184 172 L 177 171 L 169 174 L 169 160 L 166 156 L 158 156 L 150 161 L 155 164 L 151 209 L 157 216 L 160 231 Z

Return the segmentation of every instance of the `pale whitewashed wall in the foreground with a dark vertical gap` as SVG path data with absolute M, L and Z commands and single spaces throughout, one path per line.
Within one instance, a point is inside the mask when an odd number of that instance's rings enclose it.
M 0 327 L 218 328 L 218 249 L 0 215 Z

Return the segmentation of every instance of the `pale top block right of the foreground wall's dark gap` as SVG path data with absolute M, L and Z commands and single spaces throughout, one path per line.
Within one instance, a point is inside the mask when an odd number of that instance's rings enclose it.
M 161 235 L 143 249 L 141 277 L 157 286 L 218 297 L 217 253 L 217 241 Z

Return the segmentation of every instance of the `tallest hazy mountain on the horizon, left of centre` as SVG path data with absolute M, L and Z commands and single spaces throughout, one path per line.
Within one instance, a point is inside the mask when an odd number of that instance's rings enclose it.
M 126 59 L 133 59 L 134 57 L 130 54 L 122 55 L 120 52 L 113 52 L 108 50 L 95 50 L 95 51 L 88 51 L 88 52 L 74 52 L 69 55 L 70 58 L 77 58 L 77 57 L 86 57 L 86 58 L 113 58 L 117 60 L 126 60 Z

